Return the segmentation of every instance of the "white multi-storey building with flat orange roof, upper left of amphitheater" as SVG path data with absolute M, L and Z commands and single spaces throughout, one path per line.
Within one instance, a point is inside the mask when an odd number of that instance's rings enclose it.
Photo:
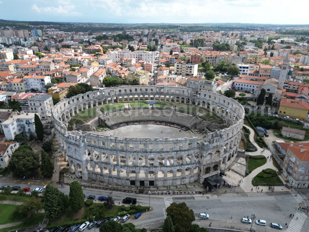
M 35 90 L 38 92 L 47 92 L 45 87 L 50 82 L 50 76 L 24 76 L 23 83 L 26 91 Z

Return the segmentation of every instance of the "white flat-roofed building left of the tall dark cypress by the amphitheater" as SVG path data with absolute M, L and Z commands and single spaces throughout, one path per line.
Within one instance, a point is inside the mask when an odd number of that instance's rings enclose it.
M 34 115 L 34 113 L 12 112 L 11 117 L 1 124 L 6 139 L 14 140 L 14 137 L 17 134 L 23 134 L 26 136 L 32 134 L 36 137 Z

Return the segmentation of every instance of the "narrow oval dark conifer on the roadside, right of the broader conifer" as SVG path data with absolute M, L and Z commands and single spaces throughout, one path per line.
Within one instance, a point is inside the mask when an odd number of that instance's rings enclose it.
M 83 189 L 76 180 L 70 184 L 70 206 L 73 212 L 78 212 L 84 207 Z

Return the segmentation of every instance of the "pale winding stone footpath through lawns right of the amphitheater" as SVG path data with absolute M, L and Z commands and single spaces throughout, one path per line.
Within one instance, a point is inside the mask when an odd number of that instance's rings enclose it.
M 253 139 L 253 136 L 254 136 L 254 130 L 251 128 L 251 127 L 248 127 L 247 125 L 243 125 L 244 127 L 247 127 L 249 130 L 250 130 L 250 140 L 251 141 L 254 141 Z M 263 155 L 265 156 L 266 158 L 269 156 L 271 156 L 271 153 L 269 150 L 265 149 L 264 153 L 262 153 L 262 148 L 260 148 L 255 142 L 253 143 L 256 148 L 257 148 L 257 151 L 256 152 L 246 152 L 248 155 L 251 155 L 251 156 L 257 156 L 257 155 Z M 251 192 L 251 189 L 253 188 L 253 191 L 261 191 L 261 189 L 263 189 L 263 191 L 266 191 L 267 190 L 267 186 L 258 186 L 259 187 L 259 190 L 256 189 L 256 186 L 253 186 L 252 185 L 252 179 L 257 175 L 259 174 L 263 169 L 267 169 L 267 168 L 271 168 L 273 170 L 276 170 L 276 167 L 273 165 L 273 162 L 272 161 L 269 161 L 267 160 L 267 162 L 256 168 L 255 170 L 253 170 L 248 176 L 244 177 L 243 178 L 243 181 L 240 183 L 240 187 L 245 191 L 245 192 Z M 284 181 L 284 179 L 279 176 L 279 178 L 281 179 L 282 183 L 283 184 L 286 184 L 286 182 Z M 286 188 L 285 186 L 274 186 L 275 190 L 274 191 L 292 191 L 292 189 L 288 189 Z

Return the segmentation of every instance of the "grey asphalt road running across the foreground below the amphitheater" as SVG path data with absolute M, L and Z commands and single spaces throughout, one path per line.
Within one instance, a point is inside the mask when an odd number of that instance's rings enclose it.
M 29 180 L 12 180 L 12 179 L 0 179 L 0 185 L 20 186 L 27 187 Z M 32 181 L 31 189 L 35 187 L 43 187 L 44 182 Z M 65 194 L 69 194 L 69 186 L 60 187 L 57 186 L 60 191 Z M 127 197 L 136 197 L 138 203 L 141 205 L 149 205 L 149 195 L 140 195 L 133 193 L 121 193 L 113 191 L 104 191 L 98 189 L 84 189 L 84 194 L 98 196 L 111 195 L 115 200 L 116 205 Z M 299 192 L 303 194 L 305 198 L 309 198 L 309 190 L 302 189 Z M 165 199 L 164 199 L 165 198 Z M 208 227 L 212 222 L 212 227 L 226 227 L 231 229 L 239 229 L 249 231 L 249 224 L 241 223 L 241 218 L 245 215 L 251 215 L 253 212 L 256 214 L 256 219 L 263 219 L 267 222 L 267 226 L 258 226 L 253 221 L 252 228 L 255 231 L 276 231 L 276 229 L 270 228 L 271 222 L 279 223 L 283 226 L 283 231 L 286 230 L 285 223 L 290 224 L 292 218 L 290 214 L 296 214 L 299 203 L 296 202 L 294 196 L 290 192 L 270 192 L 270 193 L 227 193 L 227 194 L 205 194 L 205 195 L 151 195 L 150 205 L 152 210 L 145 212 L 138 219 L 133 216 L 126 222 L 131 222 L 136 226 L 144 226 L 146 228 L 156 228 L 162 226 L 165 218 L 165 209 L 171 202 L 186 202 L 189 208 L 193 209 L 197 223 L 201 226 Z M 120 203 L 122 204 L 122 203 Z M 199 213 L 208 213 L 209 219 L 200 219 Z M 231 218 L 232 217 L 232 218 Z M 295 219 L 294 219 L 295 221 Z M 122 223 L 122 222 L 120 222 Z M 303 221 L 296 221 L 298 223 L 297 228 L 290 228 L 288 232 L 304 232 L 309 231 L 309 220 L 305 218 Z M 293 222 L 291 222 L 293 224 Z M 148 225 L 148 226 L 146 226 Z M 86 232 L 88 229 L 86 229 Z M 89 232 L 95 231 L 95 228 Z M 96 228 L 98 231 L 98 228 Z

